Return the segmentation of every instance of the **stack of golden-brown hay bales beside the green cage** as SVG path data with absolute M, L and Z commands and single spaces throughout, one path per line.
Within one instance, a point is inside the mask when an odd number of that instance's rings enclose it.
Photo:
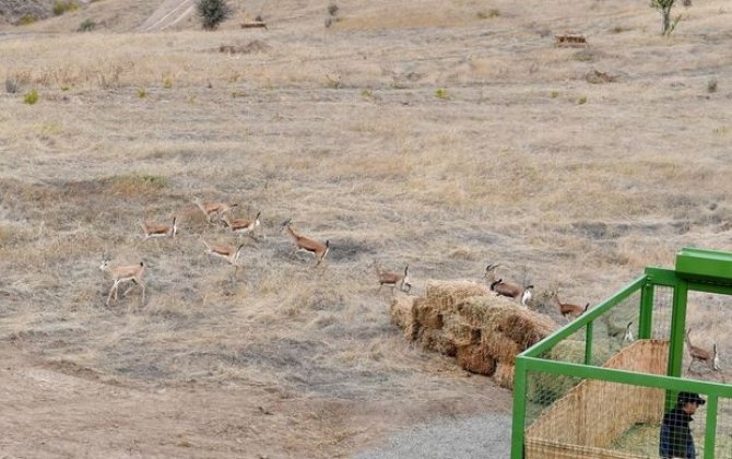
M 394 298 L 391 316 L 406 339 L 504 387 L 513 386 L 516 355 L 557 328 L 547 316 L 469 281 L 428 281 L 424 297 Z

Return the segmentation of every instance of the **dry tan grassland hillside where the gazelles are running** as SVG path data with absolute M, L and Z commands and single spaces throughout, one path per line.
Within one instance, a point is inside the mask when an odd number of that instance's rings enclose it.
M 142 0 L 0 27 L 3 454 L 349 457 L 506 413 L 509 391 L 403 339 L 375 264 L 409 263 L 420 295 L 501 263 L 595 304 L 682 246 L 732 250 L 724 0 L 676 7 L 669 37 L 621 0 L 354 0 L 329 27 L 326 2 L 232 3 L 213 33 L 138 33 Z M 262 235 L 197 197 L 261 211 Z M 329 240 L 322 267 L 286 219 Z M 238 272 L 201 238 L 244 244 Z M 105 305 L 104 254 L 145 263 L 144 303 L 122 284 Z M 729 360 L 724 306 L 690 321 Z

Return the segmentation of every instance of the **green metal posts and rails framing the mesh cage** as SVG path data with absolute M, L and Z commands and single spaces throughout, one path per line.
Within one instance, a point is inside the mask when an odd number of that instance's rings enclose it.
M 636 293 L 640 293 L 638 338 L 651 338 L 653 298 L 657 286 L 673 289 L 670 330 L 669 363 L 666 375 L 651 375 L 591 365 L 593 322 L 613 307 Z M 715 458 L 719 398 L 732 399 L 732 386 L 681 378 L 686 330 L 686 298 L 688 292 L 707 292 L 732 295 L 732 254 L 695 248 L 684 248 L 676 256 L 676 270 L 646 268 L 644 275 L 623 287 L 615 295 L 587 311 L 578 319 L 522 352 L 516 358 L 513 382 L 513 422 L 511 427 L 511 459 L 524 457 L 527 386 L 530 372 L 551 373 L 585 379 L 599 379 L 642 387 L 664 389 L 666 404 L 678 391 L 699 392 L 707 397 L 706 435 L 704 458 Z M 542 355 L 560 341 L 579 330 L 586 330 L 582 364 L 542 358 Z

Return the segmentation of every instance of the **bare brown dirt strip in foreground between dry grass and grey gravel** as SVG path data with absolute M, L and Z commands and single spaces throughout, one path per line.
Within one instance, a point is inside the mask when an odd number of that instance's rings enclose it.
M 497 388 L 479 400 L 457 395 L 394 403 L 246 384 L 127 387 L 50 366 L 9 344 L 0 345 L 0 451 L 11 458 L 351 457 L 441 411 L 453 416 L 489 401 L 506 413 L 510 403 Z

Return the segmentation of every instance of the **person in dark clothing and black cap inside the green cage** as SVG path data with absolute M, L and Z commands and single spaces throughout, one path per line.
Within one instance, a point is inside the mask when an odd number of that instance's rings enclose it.
M 696 458 L 694 437 L 689 423 L 694 421 L 692 414 L 706 400 L 694 392 L 678 392 L 676 407 L 663 416 L 661 424 L 661 438 L 659 442 L 659 454 L 662 459 Z

